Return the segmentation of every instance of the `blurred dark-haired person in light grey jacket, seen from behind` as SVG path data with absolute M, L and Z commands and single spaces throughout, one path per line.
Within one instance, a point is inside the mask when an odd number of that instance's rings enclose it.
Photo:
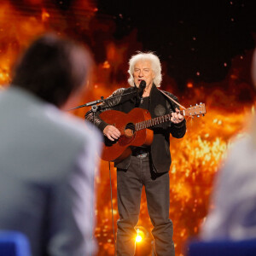
M 100 134 L 62 113 L 91 66 L 82 46 L 45 34 L 0 94 L 0 229 L 28 236 L 32 255 L 90 255 Z

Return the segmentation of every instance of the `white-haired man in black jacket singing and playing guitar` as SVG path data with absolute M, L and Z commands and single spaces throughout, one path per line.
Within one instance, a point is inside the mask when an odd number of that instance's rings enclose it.
M 148 213 L 154 229 L 154 250 L 157 255 L 173 256 L 172 220 L 169 218 L 170 193 L 169 169 L 171 166 L 170 134 L 182 138 L 186 132 L 186 121 L 179 113 L 177 97 L 159 90 L 162 80 L 158 56 L 153 53 L 138 53 L 129 62 L 128 83 L 130 88 L 120 88 L 103 103 L 96 113 L 96 126 L 110 141 L 117 141 L 120 131 L 100 117 L 100 113 L 113 109 L 129 113 L 133 108 L 147 109 L 152 118 L 171 113 L 172 118 L 150 129 L 154 131 L 153 142 L 148 147 L 133 147 L 124 160 L 115 162 L 117 167 L 118 231 L 117 255 L 134 255 L 135 237 L 141 193 L 145 186 Z M 141 83 L 145 84 L 141 88 Z M 132 94 L 132 91 L 135 93 Z M 137 93 L 140 92 L 141 93 Z M 127 93 L 131 92 L 130 95 Z M 118 96 L 118 97 L 114 97 Z M 172 101 L 175 100 L 176 102 Z M 93 121 L 93 114 L 86 113 L 86 119 Z

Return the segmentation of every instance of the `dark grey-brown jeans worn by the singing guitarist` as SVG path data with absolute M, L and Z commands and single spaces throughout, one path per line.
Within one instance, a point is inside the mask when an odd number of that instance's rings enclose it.
M 155 253 L 158 256 L 174 256 L 172 221 L 169 219 L 170 183 L 169 173 L 154 173 L 148 157 L 131 156 L 128 170 L 117 172 L 119 220 L 117 230 L 117 255 L 131 256 L 135 253 L 135 237 L 141 194 L 145 186 L 148 214 L 154 229 Z

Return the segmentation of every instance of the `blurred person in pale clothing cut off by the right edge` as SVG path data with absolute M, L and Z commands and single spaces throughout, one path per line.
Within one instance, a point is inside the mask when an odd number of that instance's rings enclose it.
M 256 87 L 256 50 L 252 65 Z M 251 130 L 232 146 L 218 173 L 214 209 L 201 228 L 204 240 L 256 238 L 256 117 Z

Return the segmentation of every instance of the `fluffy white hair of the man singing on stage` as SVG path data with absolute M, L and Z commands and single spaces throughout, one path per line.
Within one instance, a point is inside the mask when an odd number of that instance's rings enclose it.
M 131 86 L 134 86 L 134 79 L 133 79 L 133 72 L 134 72 L 134 66 L 137 63 L 137 61 L 150 61 L 151 62 L 151 68 L 154 72 L 154 84 L 156 87 L 160 87 L 161 81 L 162 81 L 162 74 L 161 74 L 161 63 L 160 59 L 157 55 L 154 55 L 153 52 L 138 52 L 137 55 L 131 56 L 131 59 L 129 61 L 129 70 L 128 73 L 130 74 L 130 78 L 128 79 L 128 83 Z

